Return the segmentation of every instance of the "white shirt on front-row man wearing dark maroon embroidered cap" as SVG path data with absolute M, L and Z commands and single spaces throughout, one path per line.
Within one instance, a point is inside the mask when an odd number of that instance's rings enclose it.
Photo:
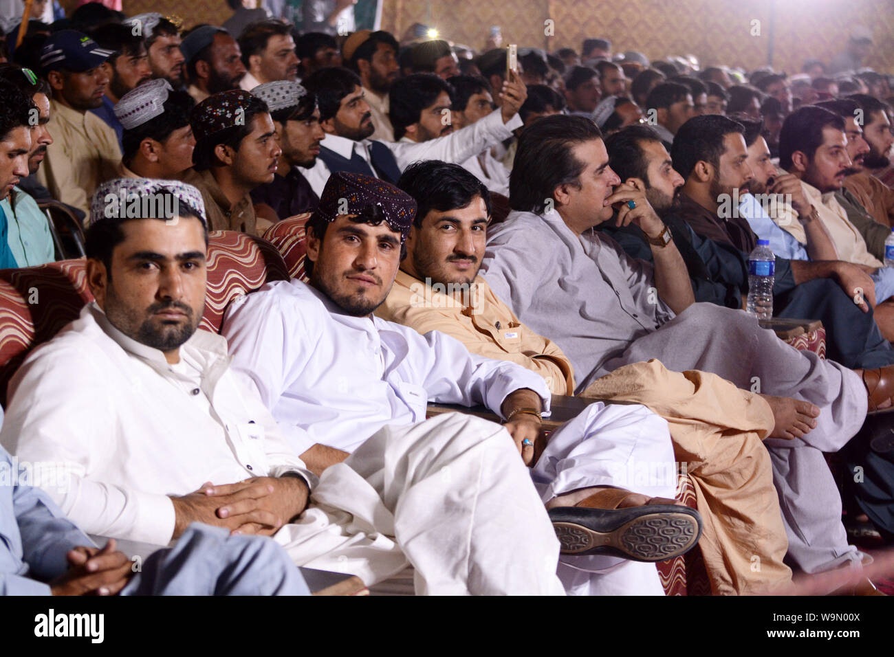
M 354 451 L 384 425 L 426 419 L 429 400 L 500 414 L 529 388 L 549 409 L 543 377 L 468 353 L 460 341 L 420 335 L 378 317 L 342 313 L 304 282 L 273 282 L 232 302 L 223 319 L 232 367 L 253 385 L 299 454 L 321 443 Z

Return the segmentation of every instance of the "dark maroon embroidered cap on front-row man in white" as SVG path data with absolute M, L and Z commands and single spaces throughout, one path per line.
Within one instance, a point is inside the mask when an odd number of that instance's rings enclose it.
M 339 215 L 360 215 L 370 206 L 379 206 L 385 223 L 407 239 L 416 216 L 416 201 L 390 182 L 362 173 L 340 171 L 326 181 L 314 217 L 332 223 Z

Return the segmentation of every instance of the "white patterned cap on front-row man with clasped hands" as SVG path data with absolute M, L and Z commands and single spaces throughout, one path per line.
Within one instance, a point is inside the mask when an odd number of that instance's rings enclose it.
M 176 206 L 170 197 L 176 199 Z M 90 225 L 109 220 L 173 219 L 183 206 L 207 227 L 205 202 L 192 185 L 156 178 L 116 178 L 97 187 L 90 206 Z

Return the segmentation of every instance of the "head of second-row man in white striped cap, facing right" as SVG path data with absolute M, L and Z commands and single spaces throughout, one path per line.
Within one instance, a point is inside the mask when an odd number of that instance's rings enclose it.
M 196 139 L 190 112 L 195 102 L 164 79 L 133 89 L 114 106 L 124 129 L 118 173 L 128 178 L 182 180 L 192 166 Z

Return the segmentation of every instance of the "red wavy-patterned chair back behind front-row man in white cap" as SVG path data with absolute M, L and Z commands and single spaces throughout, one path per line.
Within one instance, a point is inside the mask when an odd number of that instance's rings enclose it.
M 232 299 L 267 281 L 289 279 L 283 257 L 272 244 L 242 232 L 208 235 L 208 287 L 199 326 L 220 330 Z M 85 261 L 63 260 L 37 267 L 0 270 L 0 400 L 30 350 L 50 340 L 93 300 Z

